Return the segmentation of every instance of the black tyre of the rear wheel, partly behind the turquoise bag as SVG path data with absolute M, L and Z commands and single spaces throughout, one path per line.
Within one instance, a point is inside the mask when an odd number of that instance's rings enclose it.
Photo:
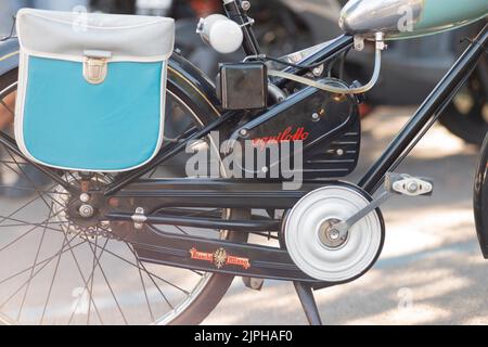
M 188 64 L 181 57 L 178 59 L 176 66 Z M 0 92 L 17 81 L 17 69 L 12 69 L 0 76 Z M 196 116 L 202 126 L 208 125 L 218 118 L 218 107 L 213 104 L 215 94 L 209 91 L 208 83 L 202 80 L 187 78 L 184 72 L 175 67 L 169 67 L 168 90 L 177 95 Z M 230 131 L 230 129 L 227 129 Z M 223 132 L 227 131 L 222 129 Z M 222 136 L 224 136 L 222 133 Z M 230 219 L 247 219 L 251 216 L 249 210 L 232 209 L 229 210 Z M 228 241 L 246 242 L 247 234 L 228 232 Z M 169 324 L 172 325 L 195 325 L 200 324 L 220 303 L 228 288 L 233 282 L 234 277 L 228 274 L 213 274 L 206 282 L 205 287 L 198 296 Z M 1 320 L 0 320 L 1 321 Z

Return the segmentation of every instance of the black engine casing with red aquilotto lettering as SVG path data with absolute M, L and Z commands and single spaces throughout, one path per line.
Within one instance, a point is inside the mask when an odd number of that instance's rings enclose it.
M 339 80 L 329 82 L 347 88 Z M 304 179 L 345 177 L 356 169 L 359 158 L 361 123 L 358 104 L 354 95 L 305 88 L 241 126 L 231 139 L 239 141 L 241 146 L 251 140 L 256 152 L 267 150 L 270 144 L 301 140 Z M 275 165 L 279 163 L 267 159 L 268 168 Z M 293 159 L 291 167 L 294 167 Z M 264 178 L 257 170 L 254 175 Z M 280 168 L 280 178 L 283 177 L 287 178 Z

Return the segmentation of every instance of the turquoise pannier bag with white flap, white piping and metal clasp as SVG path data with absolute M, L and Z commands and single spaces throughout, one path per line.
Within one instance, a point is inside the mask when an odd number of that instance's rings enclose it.
M 15 138 L 46 166 L 118 172 L 164 132 L 171 18 L 23 9 Z

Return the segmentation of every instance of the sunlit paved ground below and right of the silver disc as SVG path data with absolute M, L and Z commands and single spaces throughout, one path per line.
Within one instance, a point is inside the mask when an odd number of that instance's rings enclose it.
M 412 110 L 382 108 L 364 121 L 362 172 Z M 326 324 L 487 324 L 488 262 L 474 229 L 472 184 L 477 150 L 436 127 L 398 170 L 432 177 L 432 198 L 391 201 L 387 239 L 374 269 L 318 293 Z M 358 174 L 355 175 L 355 178 Z M 253 292 L 235 280 L 206 324 L 305 324 L 293 285 Z

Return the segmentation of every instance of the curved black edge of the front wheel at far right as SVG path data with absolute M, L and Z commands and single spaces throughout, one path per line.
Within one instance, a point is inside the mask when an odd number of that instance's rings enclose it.
M 476 232 L 483 256 L 488 259 L 488 133 L 481 147 L 474 187 Z

